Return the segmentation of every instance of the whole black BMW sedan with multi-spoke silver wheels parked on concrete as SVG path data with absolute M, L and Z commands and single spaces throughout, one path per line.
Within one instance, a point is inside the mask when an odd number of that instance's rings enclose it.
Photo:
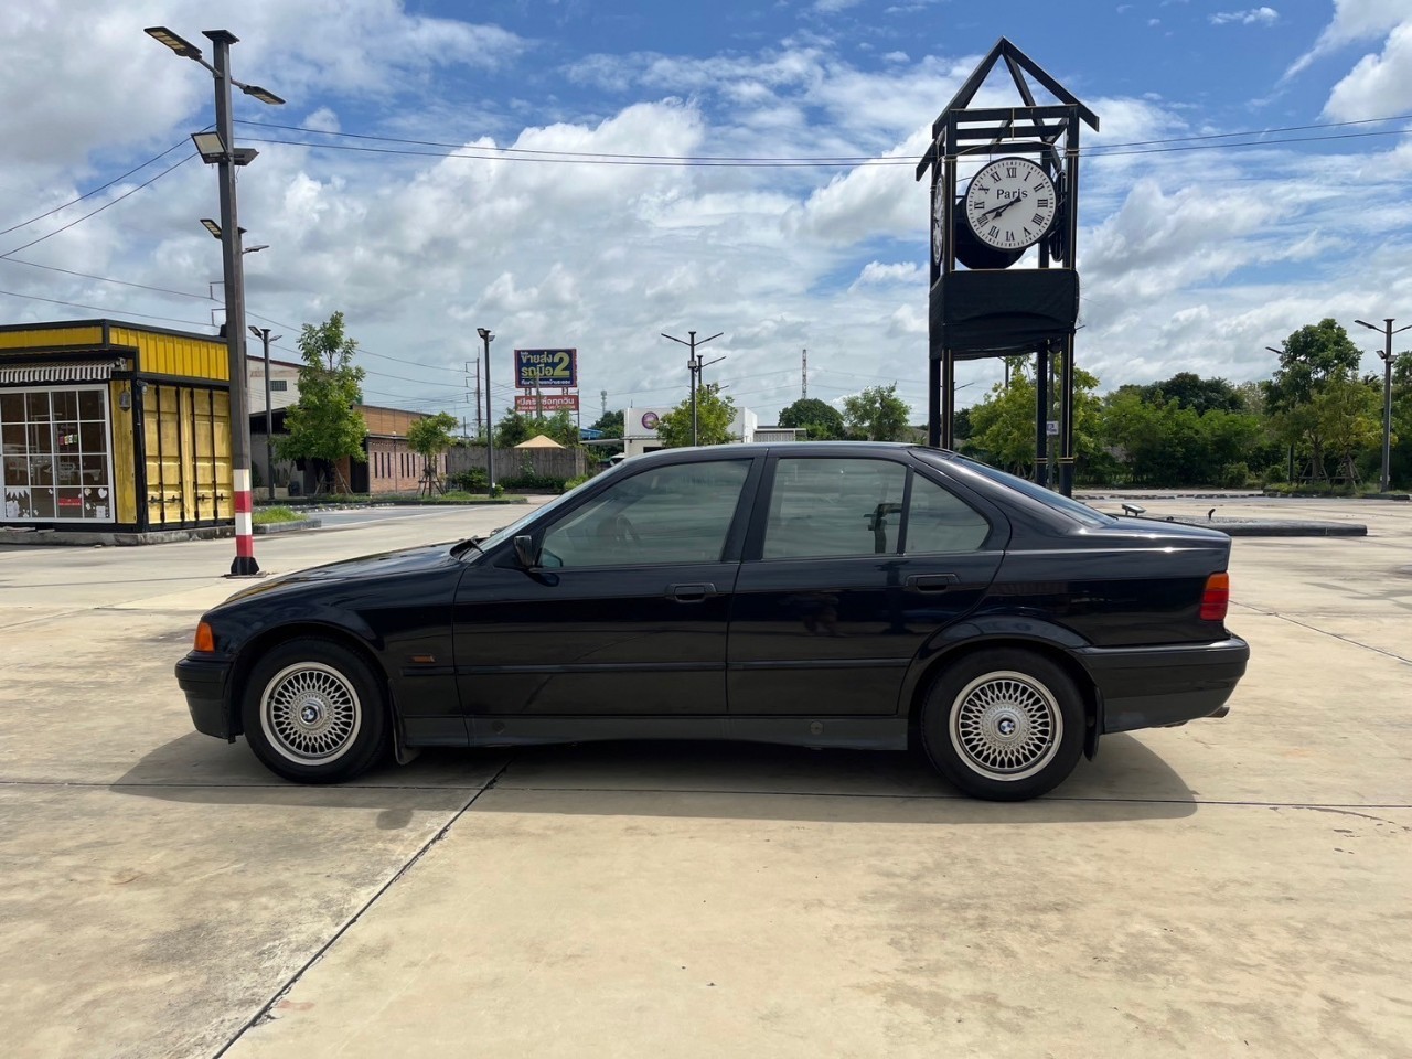
M 432 746 L 916 741 L 1032 798 L 1104 733 L 1226 713 L 1230 546 L 938 449 L 669 449 L 484 539 L 246 589 L 176 679 L 299 782 Z

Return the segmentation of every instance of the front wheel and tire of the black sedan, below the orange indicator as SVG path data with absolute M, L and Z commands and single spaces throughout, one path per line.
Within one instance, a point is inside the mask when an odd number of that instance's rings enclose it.
M 387 750 L 387 696 L 359 655 L 328 640 L 292 640 L 246 681 L 246 741 L 261 764 L 299 784 L 361 775 Z

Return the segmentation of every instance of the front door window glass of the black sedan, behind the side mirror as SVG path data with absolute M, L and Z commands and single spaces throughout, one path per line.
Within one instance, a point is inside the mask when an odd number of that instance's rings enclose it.
M 613 483 L 544 535 L 552 568 L 720 562 L 750 460 L 652 467 Z

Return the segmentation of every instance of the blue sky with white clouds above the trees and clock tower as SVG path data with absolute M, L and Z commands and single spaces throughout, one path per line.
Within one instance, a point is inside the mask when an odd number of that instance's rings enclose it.
M 215 174 L 182 161 L 212 82 L 152 24 L 230 30 L 236 76 L 288 100 L 236 97 L 261 152 L 241 223 L 270 247 L 246 257 L 251 321 L 295 359 L 342 309 L 373 404 L 473 418 L 489 326 L 497 415 L 514 347 L 580 350 L 586 422 L 602 391 L 671 405 L 688 373 L 659 332 L 695 329 L 723 332 L 713 378 L 761 421 L 802 349 L 810 397 L 897 381 L 921 419 L 912 167 L 1001 35 L 1103 123 L 1077 350 L 1103 390 L 1260 378 L 1305 323 L 1412 319 L 1405 0 L 34 0 L 0 13 L 0 321 L 219 321 Z M 984 97 L 1017 102 L 1001 76 Z M 963 404 L 998 377 L 963 373 Z

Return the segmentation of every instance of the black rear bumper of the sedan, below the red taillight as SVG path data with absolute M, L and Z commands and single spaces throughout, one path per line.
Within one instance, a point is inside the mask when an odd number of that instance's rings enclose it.
M 1250 645 L 1240 637 L 1173 647 L 1086 647 L 1075 657 L 1093 678 L 1103 731 L 1134 731 L 1224 717 L 1245 675 Z

